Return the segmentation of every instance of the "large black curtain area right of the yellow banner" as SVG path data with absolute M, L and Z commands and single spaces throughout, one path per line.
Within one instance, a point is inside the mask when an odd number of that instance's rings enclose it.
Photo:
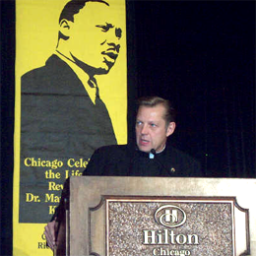
M 171 143 L 212 177 L 256 177 L 255 1 L 134 1 L 137 96 L 170 99 Z

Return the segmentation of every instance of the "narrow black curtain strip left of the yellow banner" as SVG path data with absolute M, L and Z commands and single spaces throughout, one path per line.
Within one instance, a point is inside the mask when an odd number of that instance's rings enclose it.
M 0 1 L 0 248 L 12 254 L 15 3 Z

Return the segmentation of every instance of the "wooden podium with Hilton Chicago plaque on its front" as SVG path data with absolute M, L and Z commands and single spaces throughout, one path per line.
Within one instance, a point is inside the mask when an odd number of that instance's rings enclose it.
M 256 179 L 70 179 L 57 255 L 256 255 Z

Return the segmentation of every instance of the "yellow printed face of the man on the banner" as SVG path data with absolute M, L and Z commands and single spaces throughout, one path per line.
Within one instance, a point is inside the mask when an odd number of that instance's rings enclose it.
M 106 74 L 114 65 L 120 49 L 122 31 L 116 26 L 118 12 L 104 3 L 88 2 L 69 22 L 70 54 L 93 68 L 95 74 Z

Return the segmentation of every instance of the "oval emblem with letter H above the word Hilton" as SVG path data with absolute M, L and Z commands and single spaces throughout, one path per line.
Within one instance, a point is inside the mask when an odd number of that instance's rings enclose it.
M 177 227 L 186 222 L 186 213 L 177 206 L 161 206 L 155 213 L 157 224 L 167 227 Z

